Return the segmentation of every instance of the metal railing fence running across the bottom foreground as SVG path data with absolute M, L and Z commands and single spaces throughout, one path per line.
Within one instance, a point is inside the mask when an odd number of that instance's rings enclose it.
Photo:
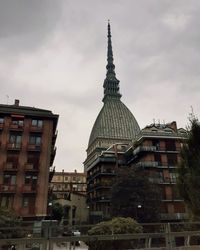
M 73 250 L 75 243 L 81 241 L 92 245 L 92 250 L 95 246 L 105 243 L 112 246 L 105 250 L 115 250 L 114 246 L 119 247 L 121 242 L 128 242 L 129 248 L 118 248 L 120 250 L 200 250 L 200 224 L 198 223 L 146 224 L 143 225 L 143 233 L 93 236 L 87 234 L 90 227 L 91 225 L 86 225 L 72 229 L 50 225 L 38 228 L 32 226 L 0 228 L 0 249 L 7 250 L 11 245 L 15 245 L 17 250 L 54 250 L 57 249 L 56 246 L 68 243 L 68 249 Z M 72 230 L 75 229 L 80 230 L 82 234 L 73 236 Z M 17 232 L 19 235 L 16 234 Z M 17 235 L 18 238 L 13 238 L 12 235 Z

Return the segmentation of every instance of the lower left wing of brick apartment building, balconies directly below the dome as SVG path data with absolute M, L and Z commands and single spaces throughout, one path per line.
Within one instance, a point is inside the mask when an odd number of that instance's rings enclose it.
M 87 197 L 92 223 L 110 218 L 111 188 L 118 168 L 126 165 L 124 154 L 129 147 L 130 145 L 122 143 L 110 146 L 102 151 L 88 171 Z

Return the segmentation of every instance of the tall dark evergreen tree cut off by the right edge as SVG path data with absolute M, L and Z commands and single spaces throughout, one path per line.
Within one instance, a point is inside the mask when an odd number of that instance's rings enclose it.
M 194 117 L 181 149 L 178 187 L 191 214 L 200 219 L 200 123 Z

